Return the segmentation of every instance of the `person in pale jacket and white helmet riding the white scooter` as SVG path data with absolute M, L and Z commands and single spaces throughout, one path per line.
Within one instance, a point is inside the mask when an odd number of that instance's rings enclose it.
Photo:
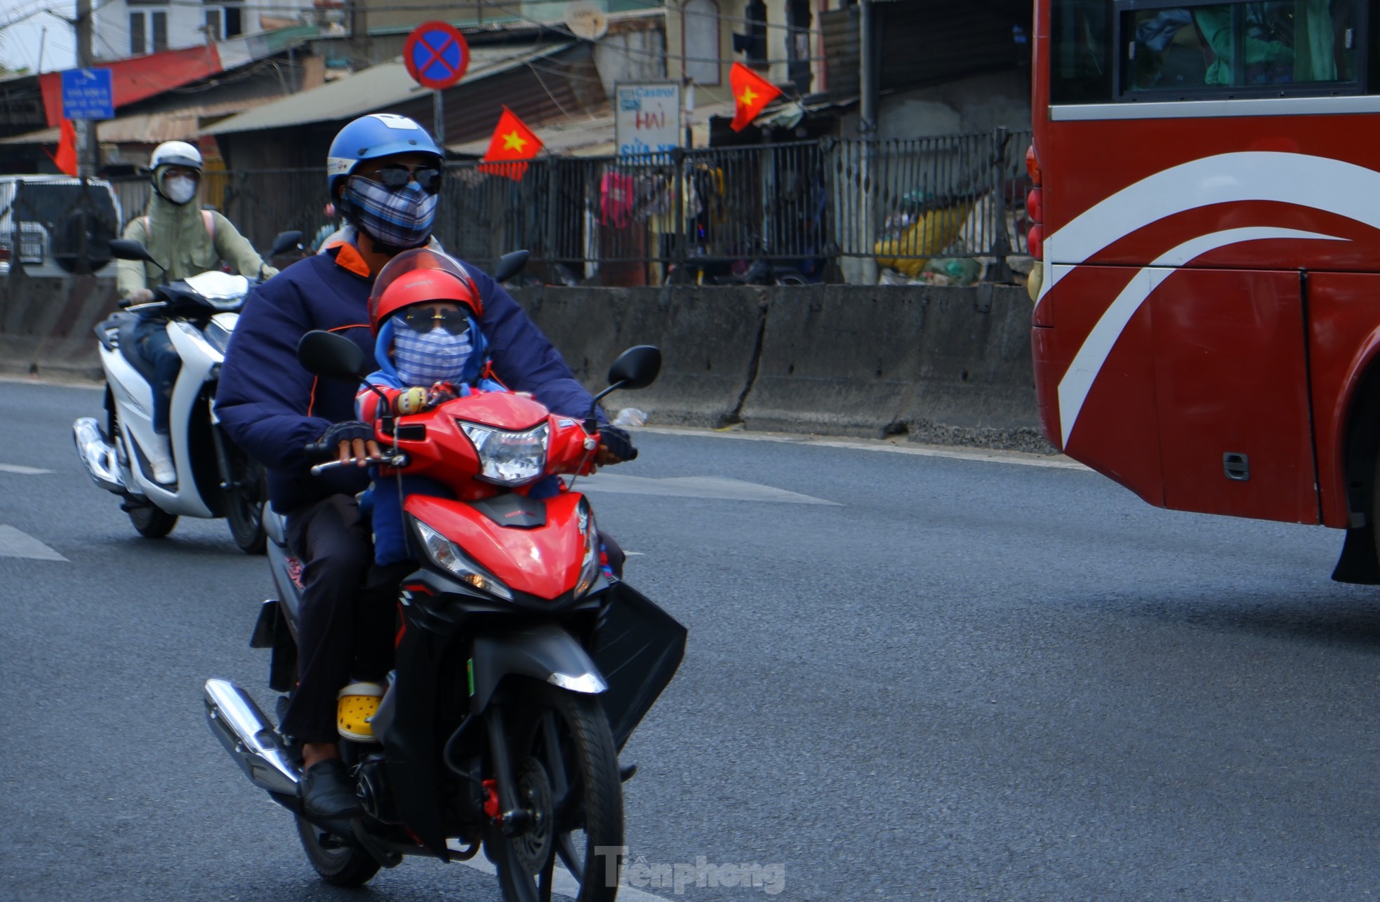
M 196 148 L 185 141 L 166 141 L 153 149 L 149 168 L 153 181 L 149 206 L 142 217 L 124 226 L 123 237 L 149 248 L 153 259 L 168 268 L 168 281 L 217 269 L 222 259 L 250 277 L 261 270 L 265 279 L 277 274 L 272 266 L 264 266 L 254 245 L 229 219 L 192 203 L 201 181 L 201 153 Z M 116 269 L 116 287 L 130 303 L 152 301 L 152 288 L 163 280 L 163 270 L 149 262 L 121 259 Z M 153 479 L 171 484 L 177 481 L 177 469 L 168 443 L 168 408 L 182 360 L 172 348 L 167 319 L 160 312 L 141 314 L 135 327 L 135 348 L 155 371 L 153 432 L 159 441 L 145 451 Z

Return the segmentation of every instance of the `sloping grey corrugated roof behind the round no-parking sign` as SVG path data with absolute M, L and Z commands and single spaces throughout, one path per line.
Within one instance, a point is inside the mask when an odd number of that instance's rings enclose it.
M 469 84 L 500 72 L 515 69 L 533 59 L 571 47 L 575 41 L 552 41 L 535 50 L 513 52 L 512 47 L 477 47 L 471 51 L 469 69 L 461 84 Z M 425 98 L 429 91 L 407 74 L 402 61 L 379 63 L 330 81 L 312 91 L 302 91 L 275 103 L 259 106 L 203 130 L 206 135 L 228 135 L 265 128 L 288 128 L 309 123 L 353 119 L 385 106 Z

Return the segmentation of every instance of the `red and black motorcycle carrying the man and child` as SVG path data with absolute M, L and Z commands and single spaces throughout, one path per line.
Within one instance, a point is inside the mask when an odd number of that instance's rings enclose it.
M 298 359 L 349 381 L 367 365 L 352 341 L 328 332 L 305 335 Z M 595 403 L 650 385 L 660 367 L 656 348 L 629 349 Z M 592 472 L 593 408 L 581 421 L 526 394 L 477 392 L 385 417 L 375 436 L 386 445 L 379 480 L 424 474 L 455 499 L 404 495 L 422 563 L 402 583 L 396 670 L 371 720 L 377 742 L 341 743 L 366 815 L 309 819 L 297 799 L 298 750 L 225 680 L 206 685 L 213 732 L 297 814 L 328 883 L 363 884 L 404 855 L 466 859 L 483 848 L 511 902 L 549 899 L 558 861 L 578 899 L 614 899 L 625 847 L 617 754 L 675 674 L 686 630 L 604 572 L 584 495 L 563 481 L 553 497 L 529 497 L 552 474 Z M 330 466 L 339 463 L 317 470 Z M 280 599 L 265 601 L 253 644 L 273 648 L 269 684 L 286 692 L 299 586 L 277 517 L 265 527 Z

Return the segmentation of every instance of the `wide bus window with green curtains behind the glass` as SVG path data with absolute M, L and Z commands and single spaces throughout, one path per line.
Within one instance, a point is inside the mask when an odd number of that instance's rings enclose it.
M 1359 0 L 1265 0 L 1118 11 L 1122 92 L 1357 92 Z M 1143 7 L 1118 0 L 1118 7 Z

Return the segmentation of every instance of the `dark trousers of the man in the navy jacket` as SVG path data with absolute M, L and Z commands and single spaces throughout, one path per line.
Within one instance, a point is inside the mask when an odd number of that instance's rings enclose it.
M 304 561 L 297 621 L 297 690 L 282 731 L 301 742 L 335 742 L 335 695 L 352 679 L 382 681 L 392 669 L 397 581 L 373 568 L 368 524 L 349 495 L 287 516 L 287 539 Z

